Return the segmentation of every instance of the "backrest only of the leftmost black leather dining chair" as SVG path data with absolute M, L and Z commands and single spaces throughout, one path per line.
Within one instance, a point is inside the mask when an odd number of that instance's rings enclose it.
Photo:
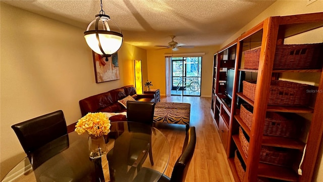
M 67 134 L 67 126 L 62 110 L 45 114 L 11 126 L 26 153 Z

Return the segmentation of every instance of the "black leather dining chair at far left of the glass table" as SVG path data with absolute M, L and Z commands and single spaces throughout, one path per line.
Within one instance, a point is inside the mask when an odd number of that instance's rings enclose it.
M 19 142 L 35 169 L 48 158 L 68 147 L 68 137 L 62 138 L 59 148 L 48 151 L 38 150 L 45 144 L 67 134 L 67 126 L 62 110 L 38 116 L 11 126 Z M 35 152 L 36 151 L 36 152 Z

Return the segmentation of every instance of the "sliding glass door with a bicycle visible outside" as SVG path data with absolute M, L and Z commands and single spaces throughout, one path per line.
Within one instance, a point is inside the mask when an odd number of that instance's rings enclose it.
M 171 95 L 201 96 L 202 57 L 172 58 Z

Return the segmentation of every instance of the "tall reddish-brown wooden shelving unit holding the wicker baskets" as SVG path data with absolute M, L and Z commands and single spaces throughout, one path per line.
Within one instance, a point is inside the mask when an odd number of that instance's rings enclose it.
M 240 179 L 234 164 L 235 150 L 239 151 L 242 156 L 241 162 L 246 165 L 245 178 L 243 180 L 244 182 L 257 181 L 257 179 L 260 177 L 264 177 L 268 181 L 277 179 L 280 181 L 312 181 L 315 161 L 323 133 L 323 124 L 321 122 L 323 120 L 323 105 L 321 104 L 323 103 L 323 93 L 317 92 L 316 97 L 313 97 L 311 101 L 312 104 L 308 107 L 271 106 L 267 103 L 270 95 L 270 85 L 272 80 L 279 80 L 283 74 L 286 76 L 286 73 L 302 74 L 304 76 L 315 73 L 315 79 L 319 80 L 315 82 L 315 86 L 318 85 L 317 90 L 323 90 L 323 74 L 321 74 L 322 66 L 318 67 L 317 69 L 273 69 L 276 45 L 284 44 L 287 37 L 292 37 L 305 32 L 308 33 L 308 31 L 320 27 L 323 27 L 323 13 L 268 17 L 238 37 L 236 44 L 235 42 L 231 43 L 231 45 L 236 45 L 236 60 L 234 66 L 235 82 L 233 88 L 233 93 L 235 94 L 232 98 L 231 108 L 226 108 L 227 110 L 223 108 L 221 99 L 217 99 L 217 96 L 219 98 L 219 93 L 216 92 L 217 89 L 212 90 L 214 91 L 214 99 L 212 97 L 212 101 L 214 100 L 220 102 L 220 107 L 213 106 L 213 108 L 217 108 L 215 110 L 219 110 L 218 115 L 220 115 L 220 117 L 222 116 L 221 112 L 228 114 L 228 117 L 225 120 L 229 118 L 229 122 L 227 123 L 229 128 L 229 139 L 226 142 L 227 146 L 225 146 L 225 149 L 227 151 L 229 165 L 236 181 L 240 181 Z M 224 49 L 227 49 L 228 47 L 230 47 L 230 45 Z M 261 47 L 258 69 L 245 69 L 243 52 L 257 47 Z M 222 50 L 217 53 L 218 66 L 220 57 L 219 53 L 221 53 Z M 218 70 L 219 68 L 215 69 L 215 71 Z M 238 92 L 239 83 L 241 83 L 239 73 L 241 72 L 251 75 L 251 78 L 256 74 L 254 101 L 244 96 L 243 93 L 240 93 L 241 91 Z M 213 82 L 215 87 L 213 85 L 213 88 L 216 88 L 218 84 L 216 75 L 216 81 Z M 293 79 L 293 82 L 298 82 L 298 80 Z M 249 127 L 240 118 L 239 106 L 242 103 L 249 104 L 253 107 L 251 129 L 249 129 Z M 213 114 L 215 113 L 215 110 L 212 110 Z M 301 118 L 300 115 L 305 114 L 309 116 L 307 117 L 306 121 L 307 126 L 305 127 L 302 125 L 304 128 L 302 128 L 302 133 L 299 133 L 298 138 L 263 135 L 267 112 L 280 112 L 286 114 L 291 113 L 299 118 Z M 299 119 L 299 121 L 305 122 L 301 119 Z M 248 158 L 244 155 L 241 146 L 242 144 L 239 140 L 239 127 L 245 131 L 250 139 Z M 293 151 L 291 154 L 297 153 L 297 155 L 294 156 L 295 159 L 293 160 L 293 167 L 283 167 L 261 162 L 259 160 L 261 146 Z M 305 146 L 306 152 L 304 152 Z M 301 169 L 304 170 L 302 170 L 302 175 L 299 175 L 295 166 L 298 168 L 303 153 L 304 159 L 301 164 Z

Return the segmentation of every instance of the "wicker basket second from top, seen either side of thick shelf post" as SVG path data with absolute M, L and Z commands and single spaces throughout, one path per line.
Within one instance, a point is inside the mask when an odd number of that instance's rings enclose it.
M 255 81 L 243 81 L 242 93 L 244 96 L 254 101 L 256 92 Z M 313 86 L 290 81 L 274 80 L 271 82 L 268 105 L 273 106 L 307 106 L 311 93 L 308 90 Z

